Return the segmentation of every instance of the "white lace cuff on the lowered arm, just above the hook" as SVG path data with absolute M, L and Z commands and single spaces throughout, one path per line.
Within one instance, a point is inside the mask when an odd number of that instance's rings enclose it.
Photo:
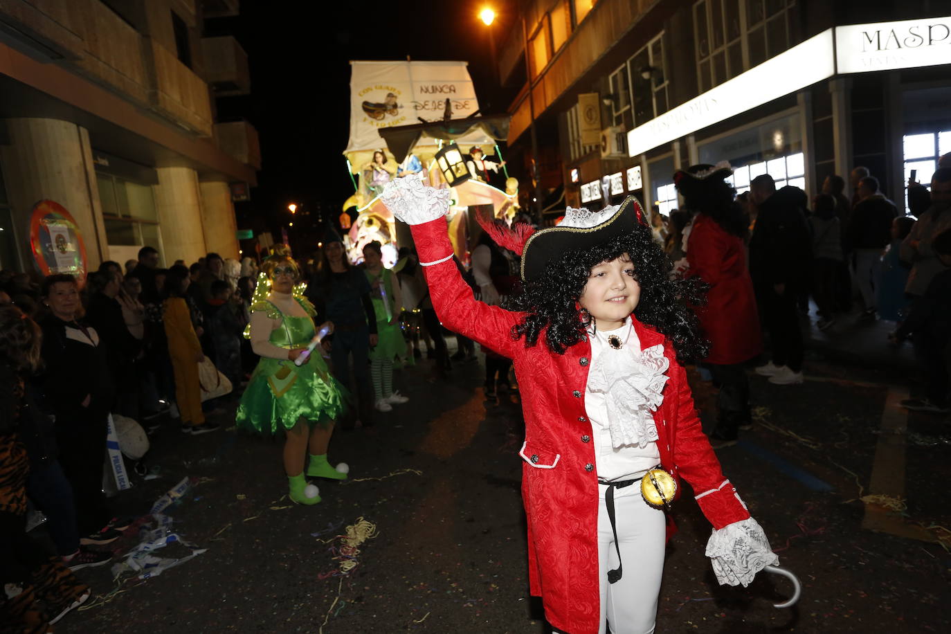
M 752 517 L 714 530 L 707 556 L 721 586 L 749 586 L 757 572 L 779 564 L 763 527 Z

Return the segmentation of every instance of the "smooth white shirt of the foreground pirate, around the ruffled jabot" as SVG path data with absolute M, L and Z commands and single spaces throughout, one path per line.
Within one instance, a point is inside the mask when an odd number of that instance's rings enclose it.
M 597 329 L 592 334 L 589 329 L 589 338 L 592 342 L 592 357 L 589 365 L 589 376 L 592 375 L 598 364 L 610 363 L 611 355 L 639 355 L 641 351 L 640 339 L 634 332 L 631 317 L 625 324 L 613 331 Z M 623 344 L 620 350 L 614 350 L 608 343 L 608 336 L 621 337 Z M 614 448 L 611 444 L 611 430 L 608 426 L 608 403 L 610 394 L 592 392 L 588 386 L 585 390 L 585 410 L 592 425 L 592 442 L 594 443 L 594 462 L 597 467 L 599 480 L 622 481 L 642 475 L 652 467 L 660 464 L 660 451 L 657 443 L 650 442 L 641 448 L 635 444 Z

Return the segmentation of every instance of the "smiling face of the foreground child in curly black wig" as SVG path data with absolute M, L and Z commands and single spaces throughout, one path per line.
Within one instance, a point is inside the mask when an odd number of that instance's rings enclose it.
M 624 325 L 641 298 L 641 285 L 634 277 L 634 265 L 627 254 L 595 264 L 578 303 L 587 310 L 601 330 Z

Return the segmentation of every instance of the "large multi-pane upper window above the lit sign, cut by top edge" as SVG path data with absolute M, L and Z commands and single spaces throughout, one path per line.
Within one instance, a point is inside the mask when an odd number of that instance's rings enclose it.
M 693 5 L 699 91 L 789 48 L 793 0 L 700 0 Z

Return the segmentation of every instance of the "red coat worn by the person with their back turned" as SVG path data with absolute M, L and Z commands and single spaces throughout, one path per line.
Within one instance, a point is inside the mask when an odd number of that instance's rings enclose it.
M 710 341 L 709 363 L 743 363 L 763 352 L 760 317 L 747 268 L 743 240 L 706 214 L 693 219 L 687 243 L 688 276 L 710 285 L 707 304 L 697 310 Z

